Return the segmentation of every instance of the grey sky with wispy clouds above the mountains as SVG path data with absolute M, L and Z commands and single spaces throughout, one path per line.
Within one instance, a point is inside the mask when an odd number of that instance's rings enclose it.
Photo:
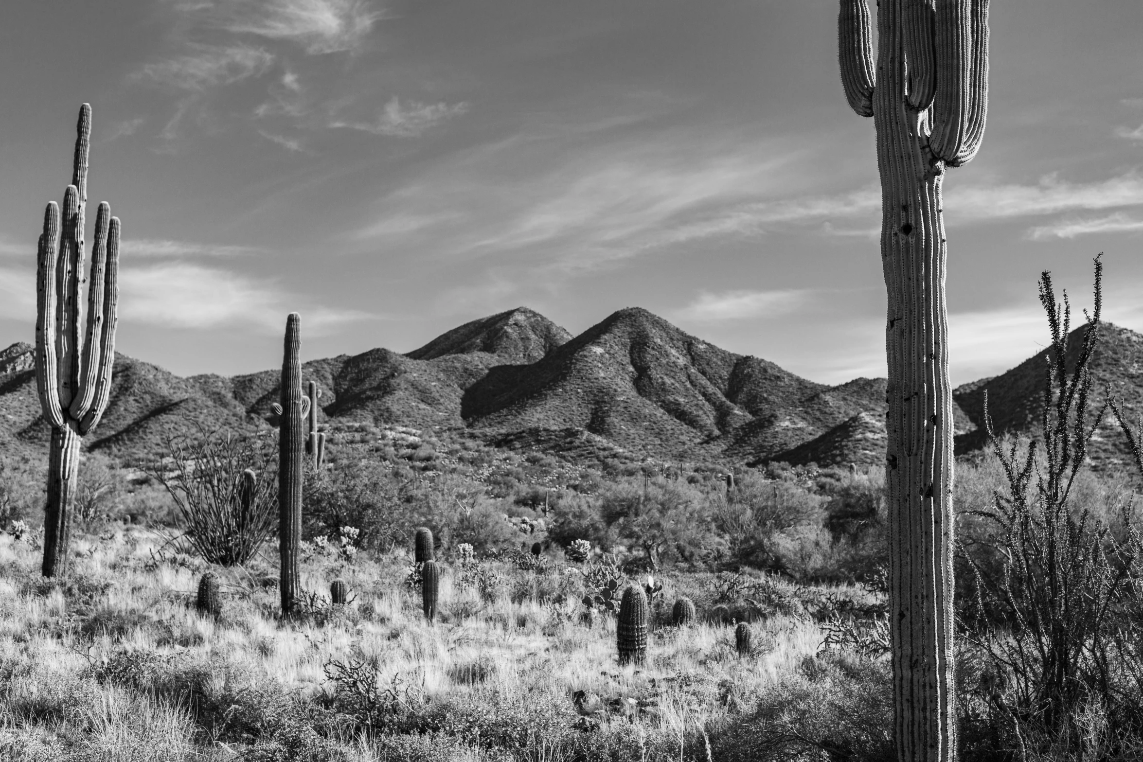
M 517 306 L 641 306 L 838 384 L 884 376 L 872 120 L 832 0 L 39 0 L 0 26 L 0 345 L 93 106 L 117 348 L 179 375 L 411 351 Z M 983 146 L 945 181 L 953 383 L 1047 344 L 1050 270 L 1143 332 L 1143 2 L 994 0 Z M 88 233 L 90 241 L 90 232 Z

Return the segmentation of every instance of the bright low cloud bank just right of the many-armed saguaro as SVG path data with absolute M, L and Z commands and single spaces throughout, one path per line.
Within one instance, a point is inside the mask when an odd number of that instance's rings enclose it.
M 304 313 L 306 329 L 321 334 L 346 322 L 376 319 L 355 310 L 306 305 L 304 297 L 273 289 L 261 279 L 190 263 L 125 267 L 119 287 L 123 321 L 176 328 L 248 324 L 278 331 L 286 314 L 298 311 Z

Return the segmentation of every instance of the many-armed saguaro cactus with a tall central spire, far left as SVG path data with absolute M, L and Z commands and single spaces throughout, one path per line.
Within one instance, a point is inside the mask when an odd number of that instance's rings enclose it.
M 106 203 L 95 217 L 91 275 L 83 324 L 83 212 L 91 106 L 79 110 L 72 184 L 63 216 L 56 202 L 43 212 L 35 272 L 35 386 L 43 419 L 51 425 L 48 502 L 43 518 L 45 577 L 67 570 L 71 506 L 80 438 L 95 428 L 111 395 L 119 302 L 119 218 Z

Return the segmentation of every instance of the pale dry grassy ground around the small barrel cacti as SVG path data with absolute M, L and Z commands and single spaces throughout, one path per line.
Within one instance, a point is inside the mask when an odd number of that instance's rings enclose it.
M 193 607 L 206 567 L 160 545 L 139 530 L 77 538 L 58 583 L 40 577 L 34 538 L 0 536 L 0 756 L 718 759 L 708 729 L 786 690 L 823 637 L 810 617 L 774 613 L 752 624 L 743 658 L 726 624 L 661 625 L 647 663 L 621 667 L 614 620 L 580 620 L 578 564 L 486 563 L 503 584 L 483 594 L 448 566 L 429 625 L 407 554 L 331 552 L 305 561 L 303 585 L 328 596 L 341 576 L 351 602 L 319 599 L 282 621 L 273 547 L 215 569 L 216 621 Z M 716 600 L 710 575 L 665 583 L 661 616 L 678 594 L 701 616 Z

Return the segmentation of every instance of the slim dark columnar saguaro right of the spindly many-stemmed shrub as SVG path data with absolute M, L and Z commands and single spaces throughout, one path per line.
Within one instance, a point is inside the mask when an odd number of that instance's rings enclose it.
M 282 615 L 294 612 L 297 597 L 297 546 L 302 539 L 302 419 L 310 407 L 302 394 L 302 318 L 286 318 L 286 340 L 282 353 L 281 398 L 274 407 L 278 414 L 278 553 L 282 597 Z

